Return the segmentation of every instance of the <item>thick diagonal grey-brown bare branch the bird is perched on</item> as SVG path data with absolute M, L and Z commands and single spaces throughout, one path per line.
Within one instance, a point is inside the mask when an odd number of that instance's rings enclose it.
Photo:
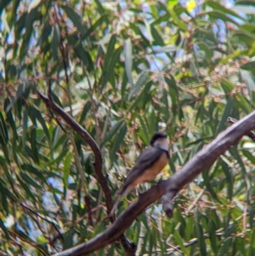
M 253 128 L 255 128 L 255 112 L 220 133 L 205 149 L 199 151 L 194 158 L 189 160 L 179 172 L 173 174 L 169 179 L 160 181 L 156 186 L 140 195 L 139 199 L 131 204 L 105 232 L 98 234 L 86 243 L 57 253 L 54 256 L 86 255 L 113 243 L 150 204 L 161 198 L 165 193 L 177 193 L 194 177 L 210 167 L 222 153 L 237 144 L 238 140 Z

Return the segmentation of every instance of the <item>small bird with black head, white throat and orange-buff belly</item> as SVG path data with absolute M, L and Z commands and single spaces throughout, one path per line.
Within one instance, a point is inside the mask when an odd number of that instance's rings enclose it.
M 167 165 L 169 155 L 169 145 L 167 135 L 164 132 L 157 132 L 150 140 L 148 146 L 139 156 L 135 166 L 131 169 L 120 190 L 120 195 L 112 207 L 110 216 L 113 215 L 120 200 L 128 195 L 137 184 L 150 181 L 164 169 Z

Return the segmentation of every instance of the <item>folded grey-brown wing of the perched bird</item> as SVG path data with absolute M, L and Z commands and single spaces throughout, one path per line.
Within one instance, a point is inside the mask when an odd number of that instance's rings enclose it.
M 126 177 L 125 183 L 120 190 L 120 195 L 128 188 L 130 184 L 135 181 L 136 178 L 141 176 L 145 170 L 147 170 L 154 162 L 156 162 L 163 151 L 157 147 L 147 147 L 139 156 L 134 167 L 130 170 Z

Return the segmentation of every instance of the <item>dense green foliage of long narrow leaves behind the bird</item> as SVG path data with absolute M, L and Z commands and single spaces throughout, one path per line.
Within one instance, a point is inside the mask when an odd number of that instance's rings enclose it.
M 228 116 L 252 112 L 255 2 L 182 2 L 0 2 L 1 255 L 60 252 L 109 225 L 90 147 L 36 91 L 52 84 L 55 102 L 96 140 L 113 199 L 157 130 L 171 144 L 159 180 Z M 244 137 L 222 155 L 179 193 L 173 218 L 161 201 L 140 215 L 126 230 L 137 254 L 255 255 L 254 148 Z M 124 249 L 115 243 L 93 255 L 106 253 Z

